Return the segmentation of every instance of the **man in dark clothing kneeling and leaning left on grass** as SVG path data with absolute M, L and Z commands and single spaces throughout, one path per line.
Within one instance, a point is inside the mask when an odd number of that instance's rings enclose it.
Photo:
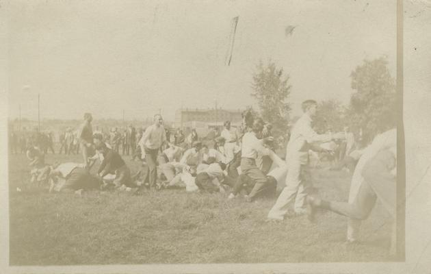
M 108 174 L 115 174 L 114 185 L 119 188 L 122 185 L 133 186 L 129 167 L 126 166 L 120 154 L 106 147 L 105 143 L 96 146 L 97 151 L 103 154 L 103 161 L 97 174 L 104 178 Z

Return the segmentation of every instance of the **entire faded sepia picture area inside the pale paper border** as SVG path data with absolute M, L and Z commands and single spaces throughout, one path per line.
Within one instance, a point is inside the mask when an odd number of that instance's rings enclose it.
M 5 263 L 405 262 L 400 2 L 0 1 Z

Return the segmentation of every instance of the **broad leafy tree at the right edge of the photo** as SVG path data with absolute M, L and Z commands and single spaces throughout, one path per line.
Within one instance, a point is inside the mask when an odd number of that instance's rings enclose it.
M 352 128 L 363 130 L 368 141 L 396 125 L 395 79 L 387 64 L 384 57 L 364 60 L 350 75 L 355 92 L 350 98 L 346 117 Z

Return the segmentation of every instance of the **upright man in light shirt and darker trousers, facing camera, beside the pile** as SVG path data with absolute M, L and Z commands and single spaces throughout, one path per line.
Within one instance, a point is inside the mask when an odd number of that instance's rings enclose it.
M 163 118 L 155 114 L 154 123 L 145 129 L 139 142 L 142 151 L 145 151 L 145 161 L 148 166 L 148 181 L 150 188 L 155 187 L 157 180 L 157 154 L 166 142 L 166 132 L 163 126 Z

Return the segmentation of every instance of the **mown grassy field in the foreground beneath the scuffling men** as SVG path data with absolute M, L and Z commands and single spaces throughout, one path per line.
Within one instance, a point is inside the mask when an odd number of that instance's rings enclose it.
M 9 159 L 11 265 L 391 260 L 389 218 L 380 204 L 363 223 L 363 241 L 348 246 L 346 219 L 330 212 L 316 223 L 305 216 L 265 223 L 274 199 L 246 203 L 185 190 L 49 194 L 24 186 L 24 155 Z M 81 156 L 47 155 L 48 163 L 54 160 L 80 162 Z M 311 175 L 319 195 L 347 199 L 349 173 L 313 169 Z

